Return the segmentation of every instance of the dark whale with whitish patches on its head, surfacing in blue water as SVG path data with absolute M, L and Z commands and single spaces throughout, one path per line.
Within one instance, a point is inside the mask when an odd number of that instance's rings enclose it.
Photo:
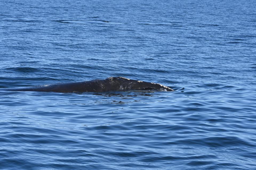
M 132 80 L 125 77 L 109 77 L 83 82 L 57 83 L 39 86 L 7 88 L 8 91 L 40 91 L 40 92 L 109 92 L 109 91 L 174 91 L 172 88 L 158 83 Z

